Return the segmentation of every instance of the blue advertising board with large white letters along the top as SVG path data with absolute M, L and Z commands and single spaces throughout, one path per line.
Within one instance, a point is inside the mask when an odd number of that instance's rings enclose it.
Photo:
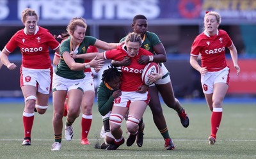
M 255 0 L 1 0 L 0 25 L 20 25 L 24 8 L 36 10 L 45 25 L 67 24 L 72 17 L 101 24 L 104 20 L 131 20 L 136 14 L 164 24 L 197 25 L 207 10 L 219 11 L 223 22 L 256 22 Z

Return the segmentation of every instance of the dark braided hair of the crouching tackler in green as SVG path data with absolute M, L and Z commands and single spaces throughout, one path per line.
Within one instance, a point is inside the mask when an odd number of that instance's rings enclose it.
M 107 70 L 104 70 L 102 73 L 102 82 L 110 82 L 113 79 L 116 79 L 117 77 L 122 76 L 122 71 L 120 68 L 113 66 L 112 64 L 108 66 Z

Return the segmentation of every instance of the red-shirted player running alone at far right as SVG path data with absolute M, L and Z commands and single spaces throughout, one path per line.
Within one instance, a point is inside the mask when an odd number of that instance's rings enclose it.
M 226 31 L 219 30 L 220 14 L 209 11 L 204 17 L 204 32 L 196 36 L 190 53 L 190 64 L 201 73 L 201 83 L 206 102 L 211 110 L 211 135 L 209 144 L 216 142 L 216 133 L 222 117 L 222 103 L 228 90 L 229 66 L 225 57 L 225 48 L 230 50 L 234 68 L 239 75 L 237 50 Z M 198 64 L 201 54 L 202 65 Z

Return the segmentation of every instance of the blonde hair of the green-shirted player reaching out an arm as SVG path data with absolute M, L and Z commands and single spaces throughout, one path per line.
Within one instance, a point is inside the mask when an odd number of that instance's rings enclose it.
M 81 17 L 75 17 L 72 20 L 70 20 L 68 26 L 67 26 L 67 32 L 68 34 L 72 34 L 74 33 L 74 31 L 76 30 L 77 26 L 81 26 L 84 27 L 85 29 L 87 28 L 87 25 L 85 23 L 85 19 L 81 18 Z

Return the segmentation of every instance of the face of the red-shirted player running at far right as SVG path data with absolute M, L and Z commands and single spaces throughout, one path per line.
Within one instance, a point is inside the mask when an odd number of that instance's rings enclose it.
M 208 15 L 207 17 L 205 17 L 204 27 L 210 35 L 214 35 L 217 33 L 219 23 L 217 22 L 215 15 Z

